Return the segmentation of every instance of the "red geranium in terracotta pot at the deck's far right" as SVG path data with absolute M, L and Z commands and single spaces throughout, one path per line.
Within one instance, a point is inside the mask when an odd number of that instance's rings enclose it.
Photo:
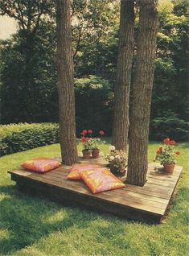
M 163 165 L 163 170 L 172 174 L 175 169 L 176 158 L 180 155 L 179 151 L 175 151 L 175 140 L 164 138 L 163 144 L 156 151 L 155 160 Z

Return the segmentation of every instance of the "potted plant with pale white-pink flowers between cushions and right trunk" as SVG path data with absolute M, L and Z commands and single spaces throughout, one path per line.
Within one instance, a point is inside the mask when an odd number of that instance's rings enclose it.
M 105 155 L 105 160 L 109 162 L 108 167 L 114 175 L 124 176 L 127 166 L 127 155 L 125 151 L 116 150 L 114 146 L 109 147 L 109 154 Z

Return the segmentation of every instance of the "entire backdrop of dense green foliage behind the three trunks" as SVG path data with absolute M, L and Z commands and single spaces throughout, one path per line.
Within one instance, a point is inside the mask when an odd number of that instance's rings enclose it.
M 25 10 L 22 18 L 16 6 L 10 5 L 10 1 L 0 0 L 0 4 L 5 9 L 2 11 L 0 5 L 0 13 L 17 15 L 19 25 L 17 34 L 0 43 L 0 123 L 2 124 L 58 122 L 54 6 L 49 2 L 46 5 L 44 0 L 41 2 L 44 2 L 44 15 L 41 15 L 40 22 L 36 23 L 36 19 L 33 20 L 30 16 L 27 2 L 20 2 Z M 32 15 L 37 15 L 38 3 L 32 2 L 32 4 L 34 5 Z M 186 0 L 159 0 L 160 26 L 150 138 L 162 139 L 165 134 L 179 140 L 188 138 L 188 7 L 189 3 Z M 27 25 L 32 24 L 32 26 L 23 28 L 22 19 Z M 111 133 L 118 27 L 119 2 L 72 1 L 72 46 L 78 133 L 84 127 L 94 126 L 105 130 L 108 134 Z M 138 16 L 135 37 L 137 34 Z M 96 84 L 102 85 L 101 89 L 92 89 L 94 80 Z M 172 121 L 170 122 L 172 119 L 174 119 L 174 128 Z M 160 123 L 163 124 L 163 129 Z

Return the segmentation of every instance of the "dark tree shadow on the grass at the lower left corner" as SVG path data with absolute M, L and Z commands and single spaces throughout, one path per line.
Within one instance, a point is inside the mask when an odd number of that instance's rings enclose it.
M 2 255 L 14 254 L 40 238 L 56 231 L 64 232 L 72 225 L 84 228 L 97 217 L 95 214 L 83 216 L 84 212 L 68 207 L 63 209 L 43 198 L 23 195 L 14 186 L 0 187 L 0 193 L 4 193 L 0 200 L 0 229 L 6 230 L 6 236 L 0 237 Z M 54 218 L 57 212 L 61 212 L 58 220 Z

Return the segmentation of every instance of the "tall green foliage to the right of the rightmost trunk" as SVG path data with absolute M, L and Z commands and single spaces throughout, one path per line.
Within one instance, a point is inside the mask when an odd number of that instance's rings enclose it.
M 159 2 L 150 139 L 189 137 L 188 10 L 185 0 Z

